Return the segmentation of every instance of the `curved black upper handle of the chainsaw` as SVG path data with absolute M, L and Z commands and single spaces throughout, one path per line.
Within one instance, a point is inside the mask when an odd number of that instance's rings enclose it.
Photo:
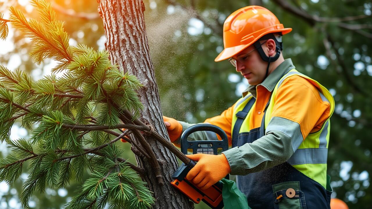
M 208 140 L 208 141 L 187 141 L 187 137 L 197 131 L 212 131 L 219 136 L 221 136 L 222 140 Z M 219 128 L 218 126 L 208 124 L 208 123 L 200 123 L 187 128 L 183 134 L 181 135 L 181 152 L 183 154 L 187 154 L 187 149 L 192 149 L 193 154 L 197 153 L 198 148 L 203 148 L 201 144 L 210 144 L 211 149 L 215 155 L 217 155 L 217 149 L 222 148 L 222 151 L 226 151 L 229 148 L 229 143 L 227 139 L 226 133 Z

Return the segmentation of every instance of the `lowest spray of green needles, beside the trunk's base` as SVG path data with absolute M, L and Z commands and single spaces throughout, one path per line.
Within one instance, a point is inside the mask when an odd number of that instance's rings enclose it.
M 102 159 L 101 159 L 102 160 Z M 95 159 L 97 162 L 102 162 Z M 101 166 L 110 168 L 112 161 L 106 161 Z M 118 172 L 113 172 L 118 169 Z M 103 171 L 104 169 L 102 169 Z M 138 175 L 129 169 L 125 163 L 114 164 L 109 171 L 93 171 L 89 180 L 77 190 L 79 195 L 73 197 L 65 209 L 86 208 L 90 204 L 97 203 L 97 208 L 105 208 L 106 202 L 110 208 L 148 208 L 154 202 L 149 195 L 145 183 L 138 181 Z

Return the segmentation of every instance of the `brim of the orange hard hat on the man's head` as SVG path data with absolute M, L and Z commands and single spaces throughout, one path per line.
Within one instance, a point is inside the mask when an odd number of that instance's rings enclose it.
M 235 56 L 236 54 L 238 54 L 239 52 L 243 51 L 248 46 L 252 45 L 254 42 L 256 42 L 258 39 L 260 39 L 262 36 L 264 36 L 266 34 L 282 32 L 282 35 L 284 35 L 284 34 L 289 33 L 291 31 L 292 31 L 292 28 L 283 28 L 283 29 L 277 29 L 277 30 L 267 31 L 266 33 L 262 33 L 260 36 L 258 36 L 257 38 L 253 39 L 253 41 L 251 41 L 248 44 L 238 45 L 238 46 L 233 46 L 233 47 L 225 48 L 224 50 L 222 50 L 221 53 L 219 53 L 219 55 L 214 59 L 214 61 L 215 62 L 219 62 L 219 61 L 227 60 L 228 58 L 231 58 L 231 57 Z

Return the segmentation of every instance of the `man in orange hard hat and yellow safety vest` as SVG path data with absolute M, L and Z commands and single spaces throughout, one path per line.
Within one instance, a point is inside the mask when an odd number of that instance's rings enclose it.
M 314 79 L 284 60 L 282 36 L 291 32 L 260 6 L 247 6 L 227 17 L 224 50 L 215 61 L 228 60 L 248 81 L 248 88 L 221 115 L 205 120 L 219 126 L 232 148 L 220 155 L 187 155 L 198 161 L 186 178 L 206 189 L 227 174 L 253 208 L 330 208 L 327 148 L 334 99 Z M 164 117 L 170 139 L 193 124 Z M 196 132 L 193 140 L 215 140 Z M 190 140 L 190 139 L 189 139 Z

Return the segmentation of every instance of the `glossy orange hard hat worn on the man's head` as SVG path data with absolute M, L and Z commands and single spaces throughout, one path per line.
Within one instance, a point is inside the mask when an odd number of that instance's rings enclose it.
M 214 61 L 226 60 L 238 54 L 266 34 L 281 32 L 284 35 L 291 30 L 284 28 L 278 18 L 264 7 L 247 6 L 238 9 L 225 20 L 225 49 Z

